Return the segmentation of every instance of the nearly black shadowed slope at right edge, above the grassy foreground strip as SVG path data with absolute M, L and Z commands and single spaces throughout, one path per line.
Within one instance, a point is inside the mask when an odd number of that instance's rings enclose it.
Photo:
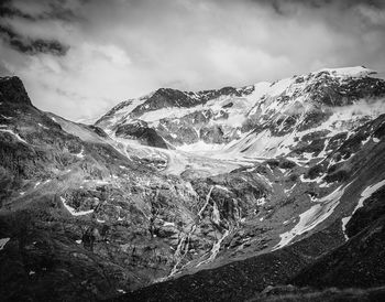
M 385 188 L 366 199 L 346 225 L 351 239 L 293 279 L 317 288 L 370 288 L 385 281 Z

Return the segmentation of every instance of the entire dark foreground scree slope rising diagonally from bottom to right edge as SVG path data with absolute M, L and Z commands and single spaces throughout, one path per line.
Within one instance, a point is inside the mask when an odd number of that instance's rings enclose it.
M 362 230 L 351 233 L 342 246 L 333 245 L 332 225 L 283 249 L 154 284 L 117 301 L 381 301 L 385 288 L 372 288 L 385 282 L 384 202 L 383 190 L 353 215 L 348 229 L 362 223 L 362 213 L 377 218 L 361 224 Z

